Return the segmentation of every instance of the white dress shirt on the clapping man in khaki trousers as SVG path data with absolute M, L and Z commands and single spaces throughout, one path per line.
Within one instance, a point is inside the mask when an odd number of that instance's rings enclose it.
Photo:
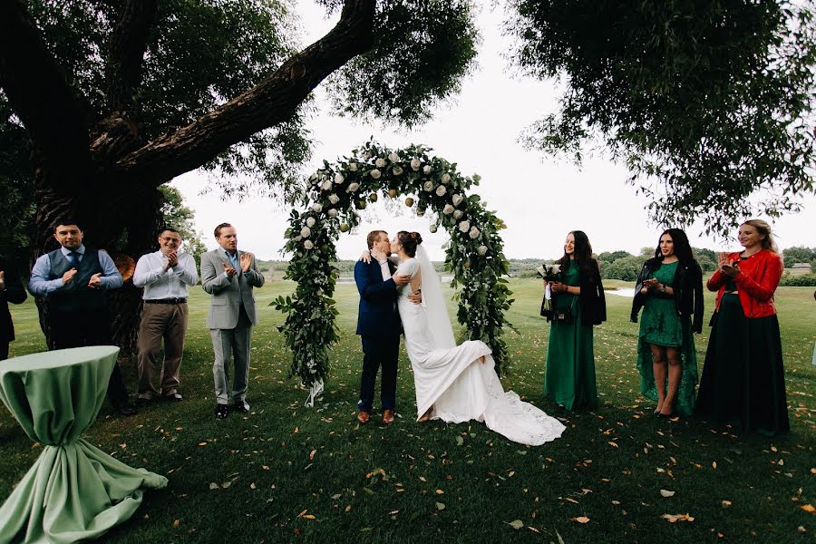
M 196 260 L 189 253 L 179 254 L 179 263 L 166 271 L 167 257 L 161 250 L 139 257 L 133 273 L 133 285 L 144 287 L 144 300 L 187 298 L 188 286 L 199 283 Z

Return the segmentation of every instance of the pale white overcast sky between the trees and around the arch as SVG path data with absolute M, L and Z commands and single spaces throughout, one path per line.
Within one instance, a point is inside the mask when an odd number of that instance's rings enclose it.
M 310 44 L 334 24 L 336 15 L 325 20 L 323 11 L 312 2 L 300 2 L 298 10 Z M 447 160 L 456 162 L 464 175 L 478 173 L 481 185 L 474 187 L 488 209 L 497 212 L 508 228 L 502 231 L 505 255 L 510 258 L 557 257 L 569 230 L 587 232 L 593 249 L 600 253 L 615 249 L 639 252 L 644 246 L 656 246 L 662 228 L 652 224 L 646 212 L 647 200 L 627 185 L 627 169 L 597 153 L 581 168 L 568 160 L 553 159 L 536 151 L 526 151 L 519 135 L 532 122 L 558 106 L 559 89 L 555 82 L 538 82 L 511 77 L 501 52 L 508 40 L 500 34 L 502 15 L 483 8 L 479 25 L 483 42 L 479 67 L 462 85 L 455 102 L 434 112 L 433 121 L 414 131 L 393 131 L 382 126 L 362 124 L 332 114 L 324 100 L 322 87 L 316 90 L 317 112 L 309 122 L 316 138 L 314 158 L 304 168 L 308 175 L 322 164 L 335 161 L 372 135 L 380 143 L 402 148 L 423 143 Z M 263 259 L 280 259 L 284 245 L 288 210 L 270 199 L 251 196 L 243 202 L 224 201 L 216 191 L 201 194 L 208 184 L 207 175 L 190 172 L 173 182 L 181 190 L 190 208 L 196 212 L 196 224 L 205 233 L 204 241 L 215 248 L 212 229 L 222 221 L 238 231 L 238 245 Z M 804 210 L 774 223 L 781 248 L 816 246 L 816 197 L 804 199 Z M 365 248 L 365 235 L 373 228 L 417 230 L 432 258 L 444 258 L 442 244 L 447 234 L 431 234 L 428 219 L 416 218 L 406 211 L 402 216 L 386 210 L 381 202 L 370 206 L 370 219 L 355 233 L 337 243 L 341 258 L 355 258 Z M 687 230 L 696 247 L 738 248 L 735 238 L 720 240 L 700 236 L 703 225 Z M 735 233 L 734 233 L 735 235 Z

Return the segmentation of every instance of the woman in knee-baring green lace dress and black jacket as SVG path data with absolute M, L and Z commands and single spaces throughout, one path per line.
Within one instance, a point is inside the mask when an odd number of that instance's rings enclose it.
M 641 307 L 637 345 L 640 392 L 657 402 L 655 413 L 659 416 L 691 415 L 697 385 L 692 333 L 703 331 L 703 272 L 683 230 L 666 229 L 660 235 L 655 257 L 644 263 L 632 303 L 635 323 Z

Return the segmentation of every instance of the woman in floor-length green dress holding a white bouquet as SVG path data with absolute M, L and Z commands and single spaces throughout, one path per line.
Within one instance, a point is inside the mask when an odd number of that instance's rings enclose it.
M 584 232 L 567 235 L 553 295 L 544 393 L 568 410 L 597 406 L 592 326 L 607 319 L 604 287 Z M 548 282 L 544 282 L 545 288 Z

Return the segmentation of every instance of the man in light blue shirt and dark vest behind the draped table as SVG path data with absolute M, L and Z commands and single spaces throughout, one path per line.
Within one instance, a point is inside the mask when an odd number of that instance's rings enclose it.
M 76 221 L 59 222 L 53 238 L 61 247 L 37 259 L 28 282 L 28 291 L 45 299 L 50 349 L 112 345 L 107 291 L 121 287 L 119 270 L 104 250 L 83 245 L 83 231 Z M 108 397 L 121 415 L 136 413 L 119 364 L 113 365 Z

